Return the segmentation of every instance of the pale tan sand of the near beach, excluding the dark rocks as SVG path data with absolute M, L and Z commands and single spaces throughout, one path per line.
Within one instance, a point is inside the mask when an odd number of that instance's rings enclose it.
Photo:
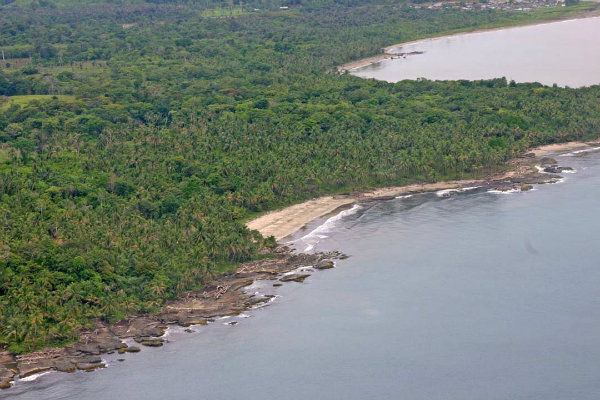
M 574 150 L 584 149 L 593 145 L 600 144 L 600 141 L 594 142 L 569 142 L 560 144 L 551 144 L 548 146 L 536 147 L 531 150 L 536 157 L 543 157 L 549 154 Z M 513 170 L 503 174 L 498 174 L 488 178 L 487 180 L 461 180 L 461 181 L 444 181 L 435 183 L 413 184 L 406 186 L 384 187 L 377 190 L 372 190 L 353 195 L 336 195 L 324 196 L 316 199 L 305 201 L 304 203 L 295 204 L 281 210 L 272 211 L 260 217 L 249 221 L 246 226 L 250 229 L 258 230 L 263 236 L 274 236 L 275 239 L 281 240 L 286 236 L 298 231 L 310 221 L 329 214 L 332 211 L 349 204 L 359 201 L 373 200 L 377 198 L 389 198 L 402 196 L 409 193 L 433 192 L 445 189 L 456 189 L 459 187 L 472 186 L 483 184 L 486 181 L 502 180 L 515 176 L 522 171 Z

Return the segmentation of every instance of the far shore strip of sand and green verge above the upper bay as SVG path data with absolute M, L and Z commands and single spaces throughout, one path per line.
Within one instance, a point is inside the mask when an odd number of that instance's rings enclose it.
M 513 23 L 509 22 L 509 23 L 505 23 L 505 24 L 502 24 L 502 23 L 490 24 L 489 26 L 486 26 L 486 27 L 477 27 L 477 28 L 473 28 L 473 29 L 459 30 L 459 31 L 449 31 L 446 33 L 440 33 L 440 34 L 436 34 L 433 36 L 426 36 L 421 39 L 410 40 L 407 42 L 392 44 L 392 45 L 383 47 L 381 49 L 381 51 L 382 51 L 381 54 L 361 58 L 359 60 L 350 61 L 350 62 L 344 63 L 342 65 L 339 65 L 337 67 L 337 71 L 341 72 L 341 73 L 350 72 L 353 70 L 367 67 L 369 65 L 377 64 L 384 60 L 394 60 L 397 58 L 405 57 L 407 55 L 411 55 L 411 54 L 406 54 L 403 52 L 398 52 L 398 50 L 400 48 L 402 48 L 402 46 L 418 43 L 418 42 L 425 41 L 425 40 L 439 39 L 439 38 L 443 38 L 443 37 L 469 35 L 472 33 L 480 33 L 480 32 L 491 32 L 491 31 L 507 29 L 507 28 L 518 28 L 518 27 L 522 27 L 522 26 L 548 24 L 548 23 L 552 23 L 552 22 L 568 21 L 568 20 L 581 19 L 581 18 L 593 18 L 593 17 L 600 16 L 600 3 L 598 3 L 598 2 L 593 2 L 593 1 L 583 2 L 578 7 L 579 7 L 578 9 L 569 10 L 568 12 L 564 12 L 564 13 L 561 13 L 558 15 L 555 15 L 555 14 L 548 15 L 547 10 L 542 10 L 542 12 L 538 12 L 537 16 L 532 17 L 532 19 L 527 20 L 527 21 L 514 21 Z

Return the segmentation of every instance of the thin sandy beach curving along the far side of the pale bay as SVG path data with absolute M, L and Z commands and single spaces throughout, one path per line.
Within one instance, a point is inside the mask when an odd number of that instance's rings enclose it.
M 396 44 L 392 44 L 389 46 L 385 46 L 382 48 L 383 53 L 344 63 L 337 67 L 337 71 L 339 73 L 350 72 L 350 71 L 357 70 L 359 68 L 367 67 L 369 65 L 377 64 L 384 60 L 393 60 L 396 58 L 405 57 L 407 55 L 406 53 L 401 53 L 401 52 L 398 53 L 398 52 L 396 52 L 396 50 L 398 50 L 398 48 L 400 48 L 402 46 L 407 46 L 407 45 L 424 42 L 424 41 L 435 40 L 435 39 L 439 39 L 442 37 L 446 38 L 446 37 L 470 35 L 473 33 L 494 32 L 494 31 L 499 31 L 499 30 L 504 30 L 504 29 L 519 28 L 519 27 L 524 27 L 524 26 L 543 25 L 543 24 L 550 24 L 553 22 L 572 21 L 572 20 L 584 19 L 584 18 L 595 18 L 595 17 L 599 17 L 599 16 L 600 16 L 600 10 L 598 8 L 595 8 L 593 10 L 585 11 L 580 15 L 568 15 L 568 16 L 564 16 L 564 17 L 554 17 L 554 18 L 548 18 L 548 19 L 543 19 L 543 20 L 527 21 L 524 23 L 517 23 L 515 25 L 508 25 L 508 26 L 505 25 L 505 26 L 498 26 L 498 27 L 493 27 L 493 28 L 476 28 L 476 29 L 472 29 L 472 30 L 462 30 L 462 31 L 455 32 L 455 33 L 438 34 L 438 35 L 426 37 L 423 39 L 410 40 L 408 42 L 401 42 L 401 43 L 396 43 Z

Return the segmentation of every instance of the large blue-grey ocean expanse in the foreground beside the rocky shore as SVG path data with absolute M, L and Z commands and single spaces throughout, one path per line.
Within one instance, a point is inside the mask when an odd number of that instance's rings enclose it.
M 315 221 L 296 247 L 350 258 L 251 287 L 277 294 L 267 307 L 0 397 L 598 399 L 600 153 L 558 160 L 576 173 L 530 192 L 421 194 Z

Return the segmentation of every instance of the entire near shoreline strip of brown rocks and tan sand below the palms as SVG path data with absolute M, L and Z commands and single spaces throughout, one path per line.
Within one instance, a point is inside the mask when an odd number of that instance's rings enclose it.
M 385 187 L 373 191 L 351 195 L 324 196 L 273 211 L 248 222 L 251 229 L 257 229 L 264 236 L 273 235 L 283 239 L 301 229 L 310 221 L 330 214 L 349 204 L 391 200 L 396 196 L 425 193 L 445 189 L 485 186 L 496 190 L 527 191 L 533 184 L 555 183 L 561 176 L 555 173 L 541 173 L 539 166 L 553 168 L 560 173 L 556 160 L 548 156 L 572 150 L 592 149 L 600 144 L 600 139 L 589 142 L 568 142 L 539 146 L 530 149 L 523 156 L 508 162 L 511 170 L 490 175 L 486 179 L 456 180 L 398 187 Z M 115 324 L 97 321 L 93 330 L 80 334 L 74 344 L 58 348 L 14 355 L 0 349 L 0 389 L 10 388 L 13 380 L 27 378 L 38 373 L 58 371 L 73 373 L 78 370 L 91 372 L 105 368 L 102 354 L 137 353 L 142 347 L 161 347 L 168 343 L 163 338 L 169 326 L 186 328 L 193 333 L 194 328 L 214 323 L 216 319 L 237 316 L 244 311 L 262 307 L 274 299 L 274 295 L 250 294 L 244 288 L 257 281 L 273 281 L 273 286 L 287 282 L 302 283 L 315 271 L 335 267 L 335 260 L 347 256 L 337 251 L 329 253 L 304 254 L 279 245 L 263 251 L 265 259 L 241 264 L 235 271 L 224 274 L 207 283 L 202 290 L 184 293 L 176 300 L 167 302 L 162 310 L 154 315 L 131 316 Z M 231 325 L 236 321 L 229 322 Z M 125 339 L 133 339 L 138 345 L 128 345 Z M 125 360 L 124 358 L 120 360 Z

